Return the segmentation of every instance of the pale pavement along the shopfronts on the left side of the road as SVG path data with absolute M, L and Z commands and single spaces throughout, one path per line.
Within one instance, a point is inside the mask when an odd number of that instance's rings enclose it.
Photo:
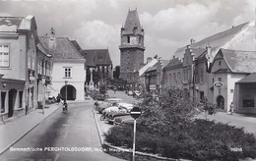
M 9 147 L 19 141 L 24 135 L 30 133 L 41 121 L 56 111 L 61 105 L 51 104 L 48 108 L 35 109 L 28 115 L 17 116 L 0 124 L 0 155 Z

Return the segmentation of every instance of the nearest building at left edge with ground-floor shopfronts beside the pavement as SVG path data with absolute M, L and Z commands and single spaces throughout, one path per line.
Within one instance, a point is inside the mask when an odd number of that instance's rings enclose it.
M 37 107 L 38 93 L 41 93 L 38 88 L 38 44 L 33 16 L 0 18 L 1 115 L 6 118 Z M 50 70 L 51 58 L 47 55 L 41 56 L 48 58 Z M 48 77 L 50 80 L 50 75 Z

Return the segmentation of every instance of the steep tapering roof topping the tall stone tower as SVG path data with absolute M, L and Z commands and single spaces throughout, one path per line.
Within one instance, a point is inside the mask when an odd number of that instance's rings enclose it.
M 140 24 L 139 16 L 137 10 L 133 10 L 128 12 L 125 24 L 124 24 L 124 34 L 133 34 L 134 29 L 138 29 L 137 33 L 142 33 L 142 27 Z

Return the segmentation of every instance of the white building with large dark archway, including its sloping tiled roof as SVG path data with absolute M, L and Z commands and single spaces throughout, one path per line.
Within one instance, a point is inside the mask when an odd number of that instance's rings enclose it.
M 51 95 L 61 94 L 67 100 L 84 100 L 86 59 L 67 37 L 55 37 L 51 28 L 49 36 L 40 36 L 43 46 L 53 56 Z

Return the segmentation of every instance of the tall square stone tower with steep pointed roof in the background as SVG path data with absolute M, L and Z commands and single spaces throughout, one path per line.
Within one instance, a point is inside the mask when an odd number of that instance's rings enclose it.
M 144 29 L 137 10 L 128 12 L 124 27 L 121 27 L 120 78 L 128 83 L 136 81 L 136 74 L 144 66 Z

